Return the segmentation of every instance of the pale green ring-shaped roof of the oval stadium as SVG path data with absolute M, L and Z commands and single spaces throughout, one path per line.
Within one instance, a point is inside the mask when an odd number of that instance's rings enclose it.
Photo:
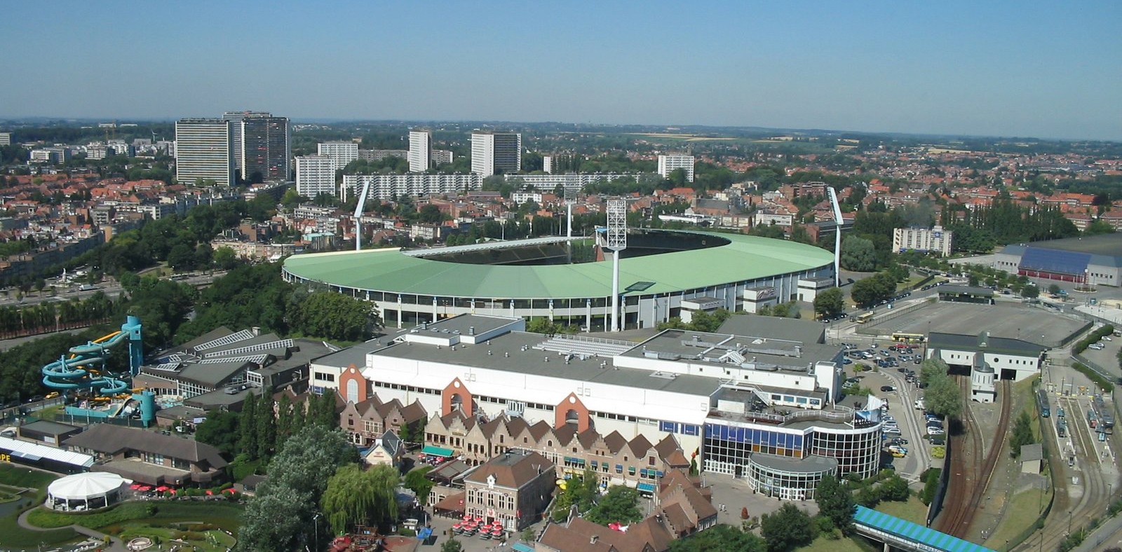
M 825 249 L 741 234 L 712 234 L 725 246 L 625 258 L 620 289 L 654 282 L 643 295 L 705 288 L 809 270 L 834 263 Z M 513 243 L 512 243 L 513 245 Z M 581 298 L 611 295 L 611 263 L 493 266 L 368 249 L 288 257 L 285 272 L 333 286 L 417 295 L 486 298 Z

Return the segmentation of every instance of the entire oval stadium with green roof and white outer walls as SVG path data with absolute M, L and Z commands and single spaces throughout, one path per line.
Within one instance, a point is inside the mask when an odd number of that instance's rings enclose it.
M 834 277 L 834 255 L 804 243 L 651 230 L 627 240 L 619 260 L 625 329 L 651 328 L 683 307 L 739 310 L 748 289 L 755 300 L 793 300 L 800 279 Z M 387 326 L 490 314 L 597 331 L 611 312 L 611 263 L 605 261 L 611 254 L 601 246 L 598 238 L 551 237 L 309 254 L 287 258 L 283 274 L 374 302 Z

